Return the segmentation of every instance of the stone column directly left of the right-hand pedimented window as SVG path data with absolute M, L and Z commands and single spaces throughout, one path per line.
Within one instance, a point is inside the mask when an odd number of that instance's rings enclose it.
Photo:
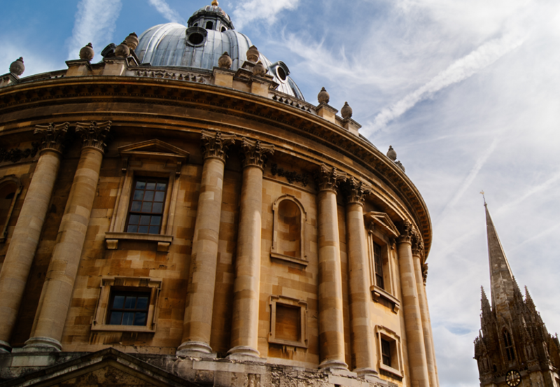
M 370 189 L 354 178 L 346 181 L 346 246 L 348 246 L 350 283 L 350 325 L 354 372 L 360 376 L 377 375 L 373 328 L 370 325 L 369 265 L 363 219 L 363 202 Z

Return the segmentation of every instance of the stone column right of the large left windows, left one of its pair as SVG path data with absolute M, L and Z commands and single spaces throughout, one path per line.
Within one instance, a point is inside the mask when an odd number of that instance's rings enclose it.
M 235 136 L 202 131 L 201 142 L 204 165 L 198 196 L 193 253 L 190 257 L 183 344 L 177 351 L 179 355 L 204 356 L 212 353 L 210 335 L 218 265 L 223 173 L 226 152 L 235 142 Z

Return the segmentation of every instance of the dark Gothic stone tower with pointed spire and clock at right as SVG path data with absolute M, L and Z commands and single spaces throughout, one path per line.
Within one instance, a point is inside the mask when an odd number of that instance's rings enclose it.
M 491 303 L 482 289 L 481 330 L 475 339 L 480 386 L 560 385 L 558 337 L 549 335 L 525 288 L 525 299 L 505 258 L 486 203 Z

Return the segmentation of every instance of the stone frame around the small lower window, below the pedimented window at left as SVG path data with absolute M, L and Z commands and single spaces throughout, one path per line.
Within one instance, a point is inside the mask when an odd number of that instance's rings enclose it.
M 162 282 L 162 279 L 149 277 L 103 276 L 91 330 L 94 332 L 155 333 L 158 320 L 158 300 L 160 298 Z M 107 323 L 110 311 L 111 293 L 115 290 L 146 290 L 146 292 L 150 292 L 150 304 L 148 307 L 146 325 L 109 325 Z

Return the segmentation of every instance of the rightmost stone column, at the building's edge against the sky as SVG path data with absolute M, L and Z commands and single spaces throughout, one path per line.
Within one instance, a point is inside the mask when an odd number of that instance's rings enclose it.
M 412 259 L 414 260 L 414 273 L 416 276 L 416 288 L 418 290 L 418 300 L 420 306 L 420 316 L 422 320 L 422 331 L 424 346 L 426 347 L 426 363 L 428 365 L 428 376 L 430 386 L 439 386 L 435 367 L 435 353 L 433 349 L 433 337 L 430 323 L 430 312 L 428 311 L 428 300 L 426 298 L 426 287 L 423 281 L 422 254 L 424 244 L 421 235 L 416 232 L 412 237 Z

